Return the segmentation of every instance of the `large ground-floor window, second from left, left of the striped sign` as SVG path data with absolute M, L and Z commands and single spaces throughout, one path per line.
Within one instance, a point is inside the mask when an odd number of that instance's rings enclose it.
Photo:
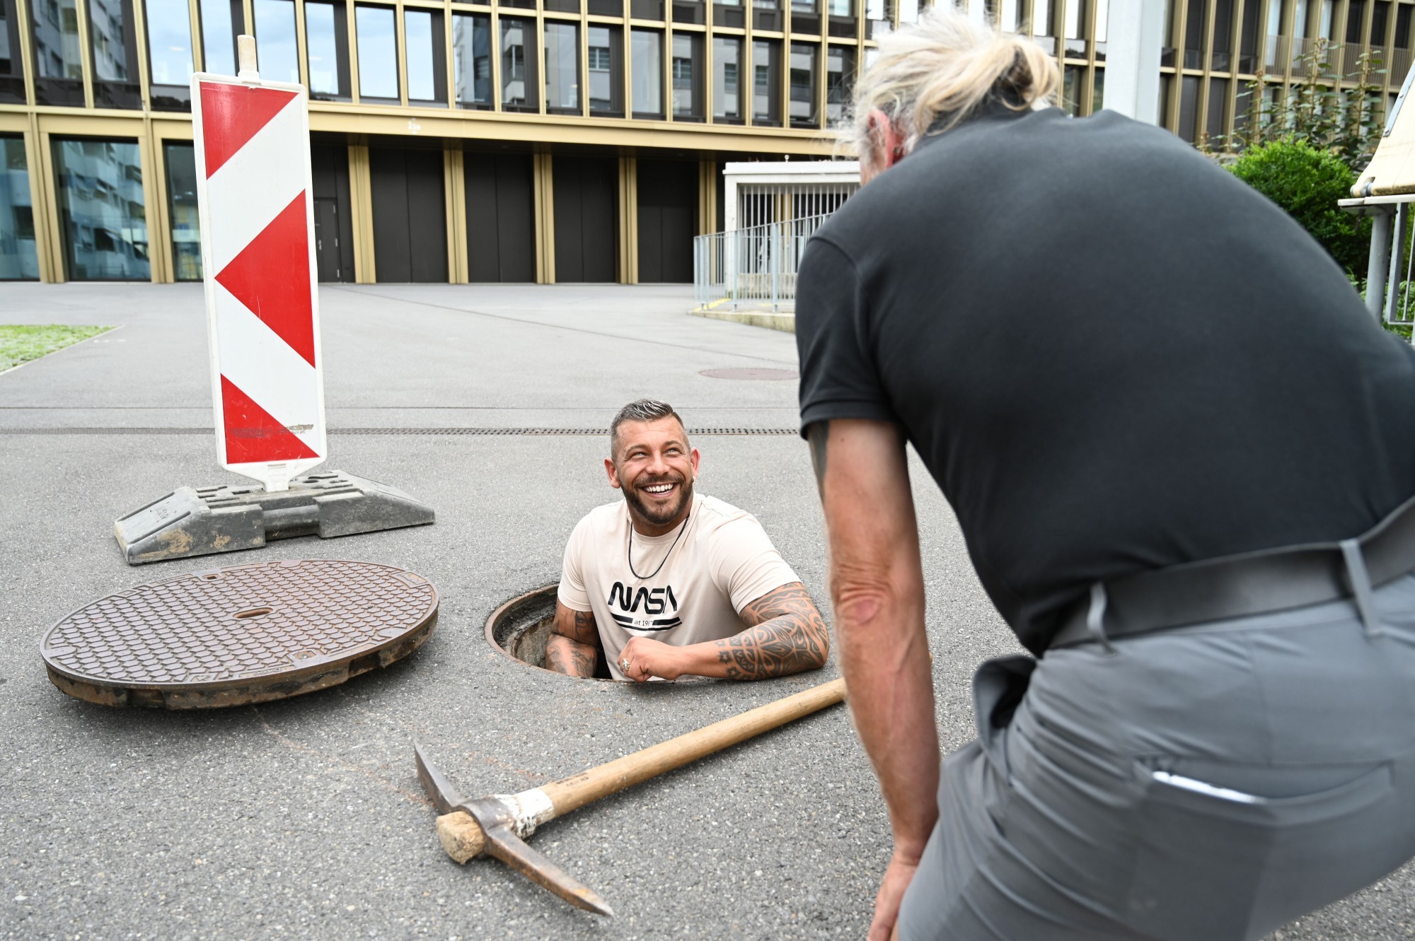
M 137 141 L 55 140 L 59 229 L 71 281 L 146 281 L 147 215 Z

